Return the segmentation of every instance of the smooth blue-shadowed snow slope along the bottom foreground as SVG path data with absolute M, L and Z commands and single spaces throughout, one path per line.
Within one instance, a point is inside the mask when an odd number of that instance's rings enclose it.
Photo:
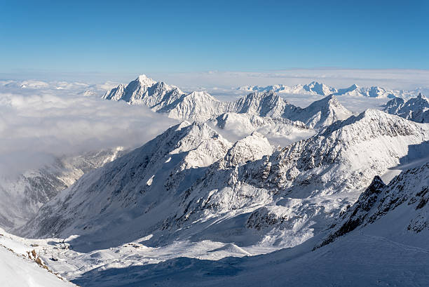
M 310 242 L 308 242 L 310 243 Z M 357 234 L 316 251 L 283 249 L 223 260 L 175 258 L 158 264 L 94 269 L 90 286 L 428 286 L 429 250 Z M 399 256 L 398 256 L 399 255 Z

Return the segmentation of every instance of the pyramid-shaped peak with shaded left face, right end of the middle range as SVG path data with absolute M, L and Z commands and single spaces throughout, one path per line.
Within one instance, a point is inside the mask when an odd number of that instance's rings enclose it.
M 301 112 L 290 116 L 290 119 L 303 121 L 311 128 L 321 128 L 352 115 L 353 113 L 343 107 L 334 95 L 328 95 L 322 100 L 313 102 Z

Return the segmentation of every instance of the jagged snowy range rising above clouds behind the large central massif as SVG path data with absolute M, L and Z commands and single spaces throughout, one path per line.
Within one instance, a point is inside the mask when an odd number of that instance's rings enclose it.
M 318 83 L 304 86 L 308 91 L 328 91 Z M 129 104 L 147 105 L 155 112 L 174 119 L 207 121 L 221 114 L 237 113 L 252 116 L 285 118 L 303 121 L 311 128 L 320 128 L 333 121 L 346 119 L 352 113 L 332 95 L 302 109 L 283 100 L 274 91 L 254 92 L 234 102 L 222 102 L 206 92 L 183 93 L 178 88 L 139 76 L 127 86 L 120 85 L 107 92 L 104 100 L 125 100 Z

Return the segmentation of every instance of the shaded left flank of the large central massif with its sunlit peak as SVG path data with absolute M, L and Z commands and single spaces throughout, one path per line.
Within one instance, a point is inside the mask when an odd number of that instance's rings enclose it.
M 23 233 L 44 236 L 79 230 L 84 235 L 97 231 L 104 232 L 109 240 L 109 236 L 116 238 L 123 233 L 107 232 L 124 227 L 115 222 L 125 218 L 139 221 L 139 216 L 151 220 L 132 228 L 145 233 L 158 229 L 159 220 L 177 206 L 177 196 L 203 175 L 207 166 L 225 156 L 231 146 L 207 124 L 184 122 L 173 126 L 139 149 L 84 175 L 43 206 Z M 57 209 L 59 205 L 62 211 Z M 130 230 L 124 235 L 132 234 Z

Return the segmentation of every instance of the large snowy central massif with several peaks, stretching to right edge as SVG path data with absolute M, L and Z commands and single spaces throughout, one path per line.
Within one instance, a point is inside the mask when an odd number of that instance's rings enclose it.
M 231 144 L 207 124 L 184 123 L 84 175 L 20 234 L 80 234 L 73 244 L 81 248 L 148 234 L 154 245 L 192 238 L 295 246 L 425 140 L 427 124 L 377 110 L 281 150 L 259 133 Z

